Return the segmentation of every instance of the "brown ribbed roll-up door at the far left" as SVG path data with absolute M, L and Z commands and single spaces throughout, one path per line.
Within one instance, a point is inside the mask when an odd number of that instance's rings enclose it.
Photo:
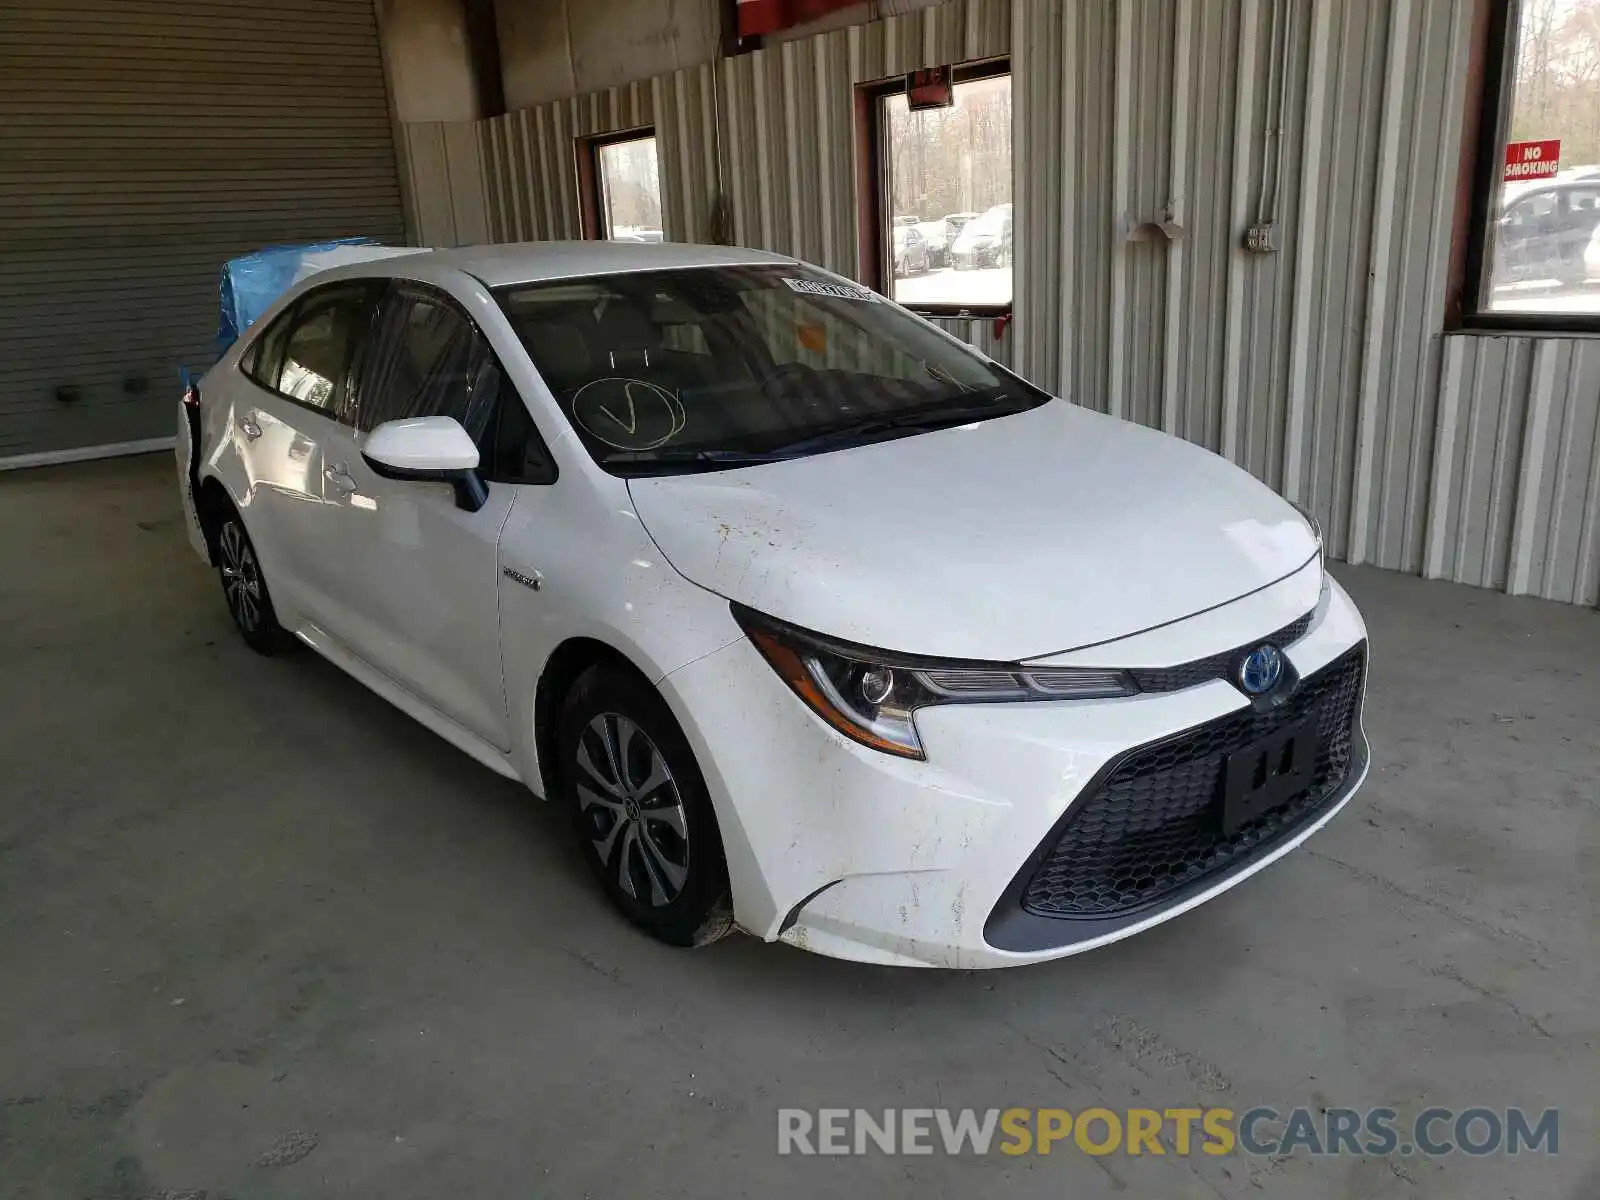
M 0 459 L 171 437 L 219 264 L 355 234 L 405 235 L 371 0 L 0 5 Z

